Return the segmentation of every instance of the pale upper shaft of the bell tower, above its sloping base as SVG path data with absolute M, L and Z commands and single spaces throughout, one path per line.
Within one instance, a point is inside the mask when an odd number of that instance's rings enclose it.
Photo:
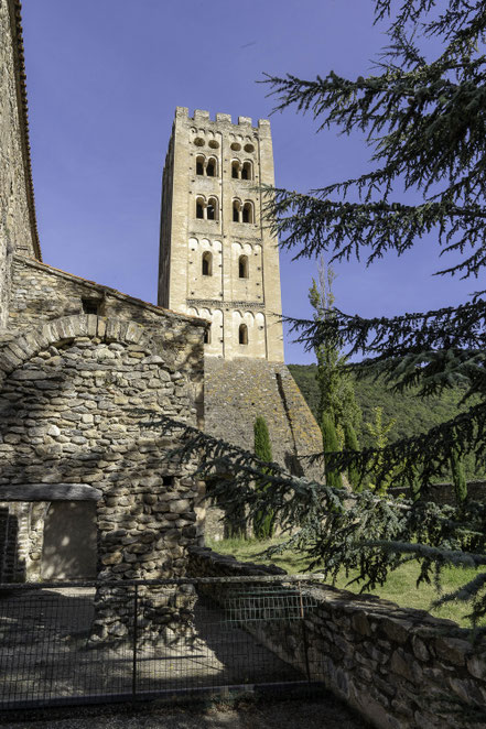
M 205 356 L 283 362 L 270 122 L 177 107 L 162 183 L 159 304 L 212 323 Z

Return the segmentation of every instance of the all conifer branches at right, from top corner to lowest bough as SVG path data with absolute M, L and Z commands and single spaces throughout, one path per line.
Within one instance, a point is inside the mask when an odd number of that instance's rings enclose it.
M 311 113 L 320 130 L 360 130 L 372 149 L 375 168 L 359 177 L 310 193 L 266 189 L 268 225 L 294 258 L 327 254 L 328 263 L 356 257 L 371 264 L 389 251 L 404 253 L 425 233 L 453 263 L 438 274 L 478 276 L 486 264 L 486 7 L 484 0 L 391 0 L 374 2 L 376 20 L 389 23 L 388 47 L 372 75 L 347 79 L 334 72 L 314 80 L 269 76 L 276 109 Z M 393 3 L 393 8 L 396 3 Z M 423 40 L 442 43 L 430 61 Z M 409 204 L 399 187 L 420 195 Z M 408 199 L 408 198 L 407 198 Z M 331 258 L 330 258 L 331 257 Z M 203 479 L 231 472 L 217 497 L 227 513 L 245 507 L 252 520 L 271 509 L 292 546 L 328 578 L 358 570 L 361 589 L 382 585 L 403 559 L 420 564 L 419 583 L 439 585 L 445 565 L 479 568 L 454 595 L 467 600 L 473 624 L 486 618 L 486 504 L 467 500 L 460 509 L 428 502 L 428 483 L 450 468 L 453 448 L 486 450 L 486 300 L 484 292 L 457 307 L 365 319 L 333 308 L 332 317 L 293 322 L 310 350 L 323 342 L 360 353 L 363 371 L 380 372 L 389 387 L 411 385 L 436 394 L 463 385 L 465 412 L 429 432 L 384 448 L 326 454 L 326 467 L 361 479 L 413 483 L 417 500 L 348 490 L 287 474 L 277 464 L 212 438 L 183 423 L 159 418 L 158 431 L 180 434 L 173 457 L 199 459 Z M 475 399 L 473 400 L 473 395 Z M 322 459 L 323 455 L 316 455 Z M 255 489 L 264 475 L 264 491 Z M 218 488 L 218 487 L 216 487 Z

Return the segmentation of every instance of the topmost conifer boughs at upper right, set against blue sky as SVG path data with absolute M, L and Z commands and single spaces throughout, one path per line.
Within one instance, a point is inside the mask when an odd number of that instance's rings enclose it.
M 390 2 L 377 0 L 377 20 L 389 9 Z M 274 191 L 269 208 L 283 247 L 296 249 L 296 258 L 328 251 L 331 263 L 356 255 L 369 264 L 436 231 L 442 252 L 462 255 L 441 272 L 479 274 L 486 226 L 485 28 L 484 2 L 407 0 L 376 75 L 268 78 L 277 110 L 295 106 L 312 113 L 320 130 L 361 130 L 376 166 L 310 194 Z M 432 62 L 419 47 L 431 36 L 444 43 Z M 404 204 L 398 187 L 420 192 L 422 202 Z

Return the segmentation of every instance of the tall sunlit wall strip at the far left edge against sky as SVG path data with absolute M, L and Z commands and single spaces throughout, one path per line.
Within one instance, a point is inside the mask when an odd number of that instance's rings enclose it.
M 35 214 L 22 97 L 19 3 L 0 0 L 0 330 L 9 308 L 12 254 L 34 255 Z

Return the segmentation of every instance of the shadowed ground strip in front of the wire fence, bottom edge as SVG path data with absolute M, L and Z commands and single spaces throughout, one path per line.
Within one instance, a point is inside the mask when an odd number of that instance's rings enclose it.
M 240 701 L 207 707 L 153 707 L 149 710 L 71 709 L 42 718 L 6 721 L 2 729 L 365 729 L 368 725 L 333 696 L 292 701 Z

